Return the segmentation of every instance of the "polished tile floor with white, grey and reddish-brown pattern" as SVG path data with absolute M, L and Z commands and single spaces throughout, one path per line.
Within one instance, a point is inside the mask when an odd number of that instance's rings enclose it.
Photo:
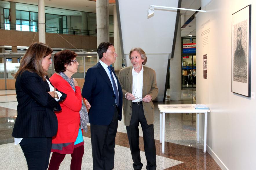
M 169 91 L 167 91 L 168 94 Z M 203 152 L 201 143 L 196 142 L 195 114 L 177 113 L 167 114 L 165 118 L 165 154 L 161 153 L 162 145 L 159 142 L 159 110 L 158 104 L 195 104 L 195 91 L 182 90 L 182 101 L 154 102 L 155 117 L 154 130 L 157 154 L 157 169 L 209 169 L 217 170 L 220 167 L 208 154 Z M 0 169 L 27 169 L 26 161 L 19 145 L 14 145 L 11 136 L 12 128 L 17 115 L 17 100 L 15 90 L 0 91 L 0 160 L 5 162 Z M 92 169 L 92 149 L 90 142 L 90 126 L 84 134 L 85 154 L 82 169 Z M 140 128 L 141 158 L 146 169 L 143 135 Z M 119 121 L 115 147 L 115 170 L 132 170 L 132 159 L 126 128 L 123 121 Z M 67 155 L 60 169 L 70 169 L 70 155 Z

